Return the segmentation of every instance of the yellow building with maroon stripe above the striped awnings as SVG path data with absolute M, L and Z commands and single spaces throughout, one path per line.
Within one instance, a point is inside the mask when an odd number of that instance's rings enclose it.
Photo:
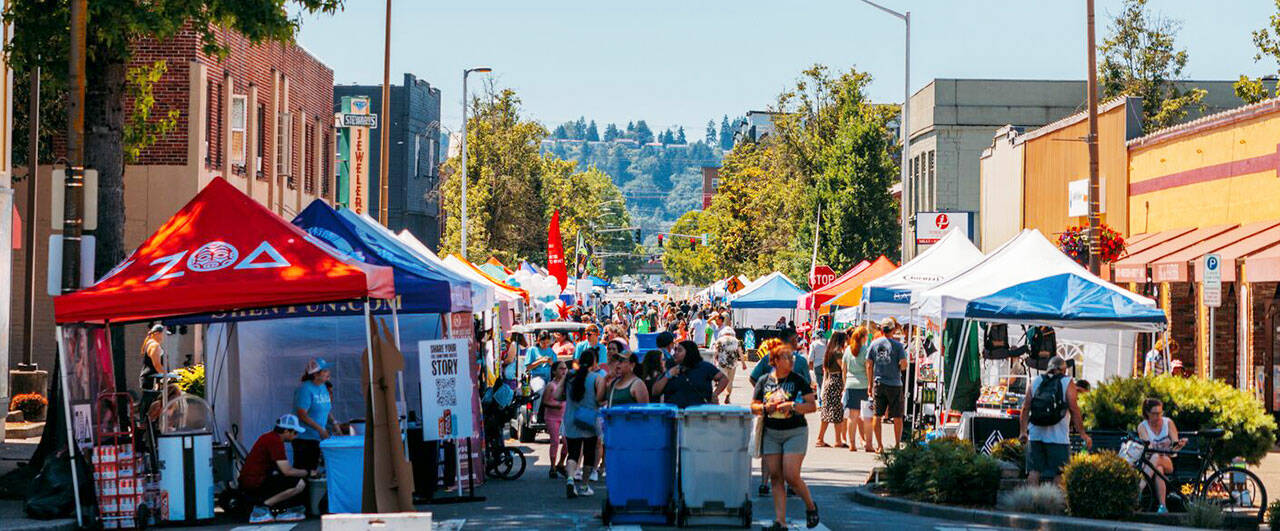
M 1129 261 L 1149 267 L 1175 328 L 1194 322 L 1194 334 L 1175 334 L 1193 343 L 1183 345 L 1188 361 L 1201 375 L 1210 366 L 1202 262 L 1217 253 L 1222 305 L 1213 311 L 1212 375 L 1271 397 L 1271 411 L 1280 409 L 1270 333 L 1280 313 L 1277 146 L 1280 100 L 1213 114 L 1130 141 L 1128 187 L 1130 232 L 1166 239 Z

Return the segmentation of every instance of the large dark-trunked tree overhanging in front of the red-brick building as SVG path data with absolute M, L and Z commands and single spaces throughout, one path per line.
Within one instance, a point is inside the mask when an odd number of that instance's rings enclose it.
M 191 28 L 209 54 L 229 51 L 221 31 L 236 31 L 251 42 L 292 42 L 303 13 L 334 13 L 340 0 L 95 0 L 88 3 L 84 91 L 84 164 L 99 171 L 96 276 L 124 260 L 124 157 L 127 65 L 141 38 L 166 40 Z M 69 0 L 9 3 L 4 19 L 22 28 L 5 46 L 10 65 L 26 78 L 36 65 L 47 75 L 42 93 L 69 87 Z M 20 83 L 19 83 L 20 84 Z M 55 100 L 55 99 L 50 99 Z M 46 107 L 47 109 L 47 107 Z M 156 116 L 156 122 L 165 118 Z M 155 133 L 155 131 L 151 131 Z M 147 133 L 136 138 L 146 139 Z

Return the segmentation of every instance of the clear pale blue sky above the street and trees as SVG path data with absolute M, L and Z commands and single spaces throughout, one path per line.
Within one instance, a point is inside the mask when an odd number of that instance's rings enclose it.
M 932 78 L 1080 79 L 1084 0 L 881 0 L 911 12 L 911 90 Z M 1192 79 L 1274 73 L 1253 61 L 1251 32 L 1271 0 L 1152 0 L 1183 23 Z M 334 82 L 378 83 L 381 0 L 347 0 L 335 17 L 306 17 L 300 42 Z M 1098 41 L 1120 0 L 1098 0 Z M 461 116 L 461 72 L 489 65 L 526 113 L 558 124 L 580 115 L 650 127 L 764 109 L 813 63 L 855 67 L 877 101 L 902 99 L 902 24 L 858 0 L 649 0 L 641 3 L 396 0 L 392 82 L 412 72 L 442 90 L 444 124 Z M 476 79 L 472 75 L 472 79 Z

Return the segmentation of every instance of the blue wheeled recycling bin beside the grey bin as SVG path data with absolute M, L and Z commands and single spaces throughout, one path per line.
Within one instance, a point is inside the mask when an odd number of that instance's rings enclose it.
M 678 412 L 672 404 L 604 409 L 605 526 L 673 523 Z

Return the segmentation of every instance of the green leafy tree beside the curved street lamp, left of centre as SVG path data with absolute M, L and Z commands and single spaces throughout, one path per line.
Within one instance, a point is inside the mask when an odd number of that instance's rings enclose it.
M 520 97 L 511 90 L 490 87 L 471 102 L 467 122 L 467 255 L 495 256 L 511 264 L 520 260 L 545 262 L 547 233 L 552 214 L 561 212 L 561 238 L 567 256 L 576 251 L 577 234 L 596 251 L 634 251 L 620 246 L 625 233 L 599 229 L 628 226 L 622 193 L 599 169 L 579 170 L 573 161 L 539 151 L 547 129 L 521 115 Z M 580 120 L 585 123 L 585 120 Z M 566 134 L 577 132 L 579 122 L 562 125 Z M 588 127 L 584 125 L 584 129 Z M 461 211 L 460 159 L 444 164 L 443 206 Z M 445 220 L 443 252 L 457 252 L 461 219 Z M 609 273 L 622 273 L 630 261 L 614 260 Z

